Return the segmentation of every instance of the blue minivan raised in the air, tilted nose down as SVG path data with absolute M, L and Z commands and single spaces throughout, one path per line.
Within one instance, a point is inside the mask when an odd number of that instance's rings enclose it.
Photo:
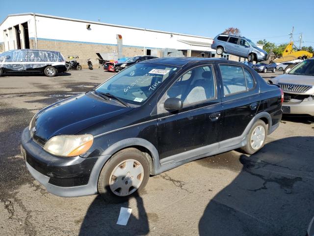
M 238 57 L 247 58 L 248 61 L 267 60 L 267 52 L 256 46 L 254 42 L 246 37 L 230 34 L 217 35 L 212 44 L 212 49 L 216 49 L 218 55 L 223 53 L 232 54 Z

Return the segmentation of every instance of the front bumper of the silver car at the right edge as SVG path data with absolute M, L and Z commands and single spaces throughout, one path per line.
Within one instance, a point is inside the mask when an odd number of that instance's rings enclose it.
M 282 107 L 284 114 L 314 116 L 314 101 L 291 99 L 289 102 L 284 102 Z

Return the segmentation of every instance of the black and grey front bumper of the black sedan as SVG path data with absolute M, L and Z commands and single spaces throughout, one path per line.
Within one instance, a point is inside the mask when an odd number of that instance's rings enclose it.
M 22 133 L 21 151 L 28 171 L 48 192 L 60 197 L 97 194 L 98 177 L 103 167 L 99 165 L 100 157 L 51 155 L 31 139 L 28 128 Z

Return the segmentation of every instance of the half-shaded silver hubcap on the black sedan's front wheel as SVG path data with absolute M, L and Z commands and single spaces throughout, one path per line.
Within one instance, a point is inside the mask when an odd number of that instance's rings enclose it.
M 119 163 L 109 177 L 110 190 L 117 196 L 128 196 L 135 192 L 144 178 L 141 163 L 128 159 Z

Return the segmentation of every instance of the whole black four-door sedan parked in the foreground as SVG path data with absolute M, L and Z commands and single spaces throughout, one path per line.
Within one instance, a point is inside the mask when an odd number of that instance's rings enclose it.
M 282 102 L 277 85 L 242 63 L 151 59 L 39 111 L 21 150 L 55 195 L 123 200 L 150 175 L 235 148 L 260 150 L 279 126 Z

